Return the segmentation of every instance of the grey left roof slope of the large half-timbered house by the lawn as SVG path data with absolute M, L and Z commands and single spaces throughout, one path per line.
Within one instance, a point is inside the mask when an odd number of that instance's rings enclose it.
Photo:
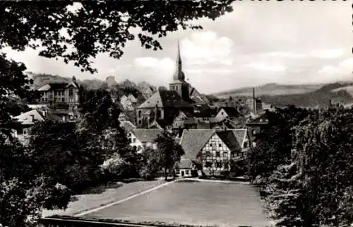
M 198 152 L 214 133 L 213 129 L 185 129 L 181 135 L 180 145 L 185 151 L 186 158 L 196 159 Z

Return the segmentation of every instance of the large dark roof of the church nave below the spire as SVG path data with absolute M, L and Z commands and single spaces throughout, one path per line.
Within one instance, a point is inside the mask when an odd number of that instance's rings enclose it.
M 177 91 L 157 91 L 148 100 L 145 100 L 138 108 L 154 107 L 192 107 L 186 103 Z

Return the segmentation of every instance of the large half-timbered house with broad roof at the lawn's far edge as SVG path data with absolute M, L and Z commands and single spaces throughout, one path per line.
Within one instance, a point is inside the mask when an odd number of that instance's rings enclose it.
M 205 175 L 217 175 L 230 170 L 230 161 L 241 161 L 249 151 L 249 135 L 246 129 L 184 130 L 180 144 L 184 159 L 201 166 Z

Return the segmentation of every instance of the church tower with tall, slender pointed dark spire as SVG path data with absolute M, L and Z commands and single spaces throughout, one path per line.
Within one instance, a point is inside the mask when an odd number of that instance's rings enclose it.
M 177 52 L 177 67 L 173 75 L 172 83 L 169 83 L 170 91 L 177 91 L 177 93 L 184 100 L 189 100 L 189 83 L 185 81 L 185 74 L 182 69 L 182 62 L 180 56 L 180 47 L 178 40 L 178 52 Z

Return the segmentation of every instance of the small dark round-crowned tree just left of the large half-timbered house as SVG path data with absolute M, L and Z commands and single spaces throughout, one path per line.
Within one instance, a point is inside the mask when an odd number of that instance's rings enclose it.
M 169 170 L 169 173 L 172 173 L 175 163 L 180 161 L 181 156 L 183 156 L 185 152 L 167 130 L 164 130 L 163 133 L 155 139 L 155 143 L 157 143 L 155 163 L 158 163 L 160 168 L 164 170 L 164 178 L 167 180 L 167 171 Z

